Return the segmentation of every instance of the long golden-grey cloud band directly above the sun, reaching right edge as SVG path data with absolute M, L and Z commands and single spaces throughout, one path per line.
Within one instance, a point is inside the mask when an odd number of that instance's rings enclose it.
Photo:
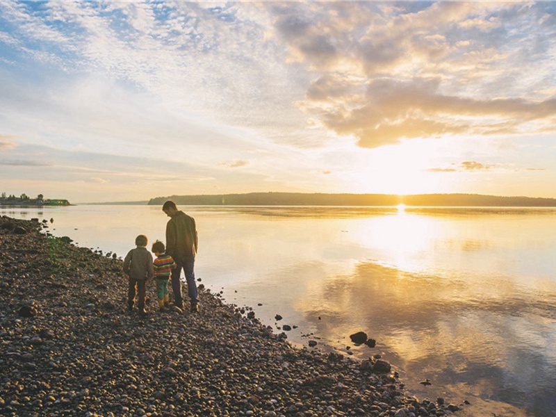
M 472 99 L 443 95 L 440 84 L 440 79 L 377 79 L 368 85 L 364 100 L 357 97 L 364 104 L 344 102 L 322 111 L 322 122 L 338 134 L 355 136 L 361 147 L 402 138 L 522 133 L 532 122 L 537 129 L 554 129 L 556 99 Z

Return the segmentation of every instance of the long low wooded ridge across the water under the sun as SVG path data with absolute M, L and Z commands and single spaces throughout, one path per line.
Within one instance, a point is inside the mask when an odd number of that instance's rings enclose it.
M 190 206 L 480 206 L 480 207 L 555 207 L 556 199 L 500 197 L 478 194 L 307 194 L 247 193 L 224 195 L 171 195 L 150 199 L 149 205 L 161 205 L 171 199 Z

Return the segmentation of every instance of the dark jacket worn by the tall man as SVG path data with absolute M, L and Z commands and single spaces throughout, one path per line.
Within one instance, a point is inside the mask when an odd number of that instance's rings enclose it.
M 176 261 L 195 257 L 199 239 L 195 219 L 178 211 L 166 224 L 166 254 Z

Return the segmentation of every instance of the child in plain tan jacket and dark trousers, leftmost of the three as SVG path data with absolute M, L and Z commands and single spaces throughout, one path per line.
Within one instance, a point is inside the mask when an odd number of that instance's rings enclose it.
M 145 296 L 147 280 L 152 279 L 152 255 L 147 250 L 147 236 L 139 235 L 135 239 L 137 247 L 129 251 L 124 259 L 124 273 L 129 281 L 129 289 L 127 292 L 127 311 L 133 311 L 133 300 L 138 294 L 137 307 L 139 316 L 144 317 Z

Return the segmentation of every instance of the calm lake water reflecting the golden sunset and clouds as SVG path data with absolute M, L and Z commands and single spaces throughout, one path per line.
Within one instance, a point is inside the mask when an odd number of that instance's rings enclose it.
M 382 354 L 418 398 L 471 402 L 458 416 L 556 416 L 556 209 L 180 208 L 197 277 L 276 332 L 297 326 L 292 343 Z M 159 206 L 0 213 L 119 256 L 167 221 Z M 375 348 L 350 343 L 360 330 Z

